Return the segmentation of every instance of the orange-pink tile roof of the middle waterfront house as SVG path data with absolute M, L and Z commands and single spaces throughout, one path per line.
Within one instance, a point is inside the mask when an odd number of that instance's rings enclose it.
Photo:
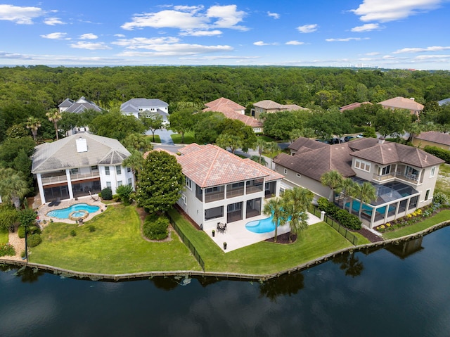
M 191 144 L 182 148 L 180 153 L 176 160 L 183 167 L 183 173 L 201 188 L 248 179 L 278 177 L 276 172 L 271 174 L 266 167 L 258 163 L 255 165 L 255 162 L 249 163 L 248 160 L 212 144 Z

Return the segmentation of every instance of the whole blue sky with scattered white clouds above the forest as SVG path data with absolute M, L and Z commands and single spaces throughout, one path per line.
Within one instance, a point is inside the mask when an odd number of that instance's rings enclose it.
M 0 32 L 0 65 L 450 70 L 450 0 L 23 0 Z

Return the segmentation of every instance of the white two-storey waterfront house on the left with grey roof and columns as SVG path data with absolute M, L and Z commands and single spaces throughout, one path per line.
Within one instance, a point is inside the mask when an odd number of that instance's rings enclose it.
M 72 199 L 117 186 L 134 188 L 131 170 L 122 165 L 130 155 L 117 139 L 75 134 L 34 148 L 32 173 L 36 174 L 41 202 Z

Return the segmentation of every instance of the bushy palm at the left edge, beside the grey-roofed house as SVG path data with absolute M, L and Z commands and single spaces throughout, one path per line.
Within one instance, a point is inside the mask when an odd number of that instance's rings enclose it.
M 22 174 L 12 168 L 0 168 L 0 196 L 20 208 L 21 199 L 28 193 L 28 184 Z

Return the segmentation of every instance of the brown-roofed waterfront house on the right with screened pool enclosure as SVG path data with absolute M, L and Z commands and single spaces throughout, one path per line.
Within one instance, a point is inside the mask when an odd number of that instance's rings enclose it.
M 330 196 L 330 189 L 321 184 L 321 176 L 337 170 L 342 177 L 355 182 L 371 182 L 377 199 L 363 205 L 362 220 L 373 228 L 432 202 L 439 165 L 444 163 L 419 148 L 385 141 L 383 138 L 361 138 L 342 144 L 316 144 L 300 138 L 289 146 L 291 155 L 281 153 L 274 158 L 276 172 L 285 175 L 283 184 L 289 188 L 302 186 L 316 198 Z M 346 209 L 352 205 L 358 214 L 359 201 L 341 196 L 338 203 Z

